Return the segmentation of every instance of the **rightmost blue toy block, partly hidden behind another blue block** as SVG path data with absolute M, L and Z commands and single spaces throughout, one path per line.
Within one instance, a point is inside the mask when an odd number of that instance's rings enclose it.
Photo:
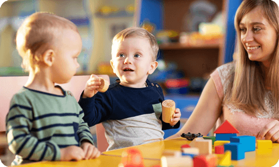
M 244 144 L 243 148 L 245 152 L 256 150 L 256 137 L 255 136 L 237 136 L 230 138 L 231 143 L 241 143 Z

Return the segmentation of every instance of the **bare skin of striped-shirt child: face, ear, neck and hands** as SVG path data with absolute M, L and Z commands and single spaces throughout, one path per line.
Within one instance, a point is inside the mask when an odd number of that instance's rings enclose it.
M 61 89 L 55 88 L 55 83 L 64 84 L 75 75 L 80 66 L 77 57 L 81 52 L 82 41 L 80 35 L 73 30 L 63 30 L 57 36 L 57 39 L 60 39 L 57 43 L 60 46 L 59 51 L 49 49 L 42 54 L 42 60 L 36 67 L 37 69 L 30 70 L 25 87 L 63 95 Z M 67 41 L 76 41 L 76 43 Z M 98 156 L 100 156 L 100 151 L 87 140 L 81 142 L 81 147 L 68 146 L 60 149 L 62 161 L 92 159 Z

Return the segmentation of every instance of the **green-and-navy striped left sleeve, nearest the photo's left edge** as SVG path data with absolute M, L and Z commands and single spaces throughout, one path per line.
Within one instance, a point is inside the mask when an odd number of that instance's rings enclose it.
M 11 152 L 32 161 L 59 160 L 60 149 L 54 142 L 40 142 L 32 129 L 33 109 L 27 99 L 15 95 L 6 116 L 6 134 Z

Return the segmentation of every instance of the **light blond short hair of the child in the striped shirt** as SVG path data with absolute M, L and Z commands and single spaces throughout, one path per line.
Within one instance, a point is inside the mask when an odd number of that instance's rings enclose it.
M 45 51 L 59 48 L 55 46 L 56 35 L 63 29 L 78 32 L 73 22 L 47 12 L 37 12 L 25 19 L 16 34 L 16 46 L 25 71 L 34 71 Z

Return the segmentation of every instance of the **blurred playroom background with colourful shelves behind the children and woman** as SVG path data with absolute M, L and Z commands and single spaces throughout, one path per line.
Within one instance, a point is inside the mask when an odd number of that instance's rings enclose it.
M 160 49 L 158 68 L 149 79 L 163 88 L 165 99 L 176 102 L 182 113 L 182 127 L 211 72 L 232 61 L 233 17 L 240 3 L 241 0 L 8 0 L 0 8 L 0 77 L 28 75 L 21 68 L 15 35 L 32 13 L 51 12 L 74 22 L 83 42 L 76 75 L 107 74 L 111 84 L 117 79 L 110 65 L 114 35 L 127 27 L 143 27 L 156 36 Z M 164 138 L 177 131 L 165 131 Z

